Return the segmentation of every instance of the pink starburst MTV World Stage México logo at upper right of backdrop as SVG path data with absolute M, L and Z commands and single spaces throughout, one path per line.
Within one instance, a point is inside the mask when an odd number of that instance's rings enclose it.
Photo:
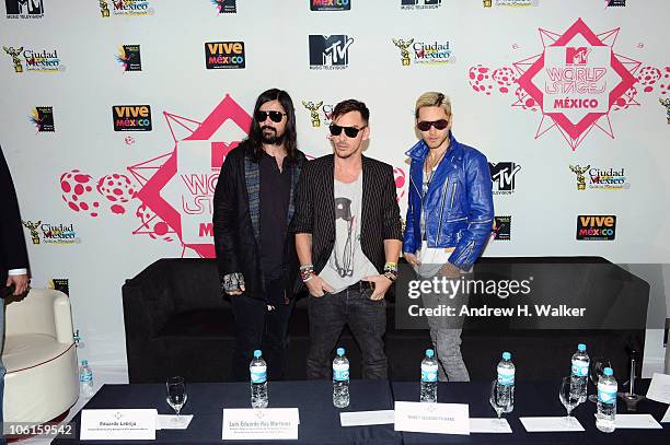
M 614 139 L 610 113 L 639 105 L 638 84 L 645 93 L 654 91 L 661 71 L 640 69 L 640 61 L 615 52 L 620 28 L 596 34 L 578 19 L 563 33 L 539 31 L 542 52 L 513 62 L 513 68 L 471 67 L 472 89 L 486 95 L 513 92 L 512 107 L 541 112 L 535 139 L 558 131 L 573 151 L 593 130 Z M 660 89 L 665 94 L 670 85 Z

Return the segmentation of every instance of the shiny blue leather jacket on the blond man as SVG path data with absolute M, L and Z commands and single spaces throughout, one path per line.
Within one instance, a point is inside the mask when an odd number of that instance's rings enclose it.
M 458 142 L 453 134 L 438 165 L 426 197 L 423 197 L 424 160 L 428 145 L 421 140 L 405 154 L 409 167 L 409 202 L 403 253 L 421 247 L 421 209 L 426 211 L 428 247 L 454 247 L 449 262 L 470 270 L 482 255 L 494 220 L 490 171 L 486 156 Z

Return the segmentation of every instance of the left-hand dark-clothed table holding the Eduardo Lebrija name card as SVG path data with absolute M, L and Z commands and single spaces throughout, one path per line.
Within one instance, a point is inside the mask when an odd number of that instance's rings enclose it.
M 223 408 L 250 408 L 247 383 L 186 384 L 188 400 L 182 410 L 195 414 L 187 430 L 159 430 L 155 442 L 160 444 L 217 444 L 221 442 Z M 353 380 L 351 400 L 346 409 L 333 407 L 333 384 L 325 380 L 270 382 L 268 385 L 270 408 L 299 408 L 300 425 L 298 441 L 278 441 L 298 444 L 400 444 L 402 436 L 393 425 L 347 426 L 339 424 L 342 411 L 369 411 L 393 409 L 389 382 Z M 157 408 L 161 414 L 174 413 L 165 401 L 165 386 L 149 385 L 104 385 L 86 403 L 86 409 Z M 80 431 L 78 413 L 77 437 Z M 51 444 L 104 444 L 113 441 L 80 441 L 79 438 L 56 437 Z M 146 444 L 147 441 L 124 441 L 123 443 Z M 268 441 L 231 441 L 240 444 L 267 444 Z

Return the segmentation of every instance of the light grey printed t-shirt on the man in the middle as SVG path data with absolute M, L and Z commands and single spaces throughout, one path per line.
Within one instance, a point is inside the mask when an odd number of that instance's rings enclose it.
M 334 292 L 344 291 L 363 277 L 379 272 L 360 247 L 362 173 L 349 184 L 335 179 L 335 245 L 319 277 Z

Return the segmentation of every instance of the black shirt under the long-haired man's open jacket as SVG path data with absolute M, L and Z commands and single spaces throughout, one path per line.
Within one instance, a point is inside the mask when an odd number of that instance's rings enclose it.
M 284 159 L 281 172 L 275 157 L 263 153 L 261 171 L 261 267 L 265 279 L 280 278 L 291 192 L 291 164 Z

